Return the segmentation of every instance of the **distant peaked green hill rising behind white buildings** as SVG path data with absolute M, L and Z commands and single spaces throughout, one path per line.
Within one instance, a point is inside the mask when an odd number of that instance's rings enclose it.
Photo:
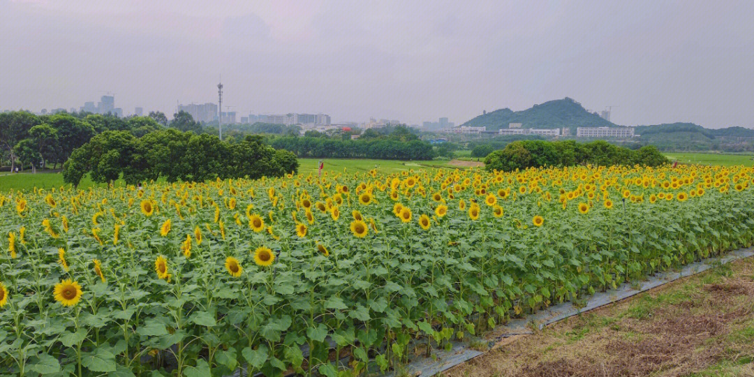
M 561 128 L 571 127 L 619 127 L 605 121 L 592 112 L 587 112 L 581 103 L 566 97 L 562 100 L 547 101 L 530 109 L 514 112 L 499 109 L 479 115 L 462 126 L 487 127 L 487 130 L 507 128 L 509 123 L 521 123 L 524 128 Z

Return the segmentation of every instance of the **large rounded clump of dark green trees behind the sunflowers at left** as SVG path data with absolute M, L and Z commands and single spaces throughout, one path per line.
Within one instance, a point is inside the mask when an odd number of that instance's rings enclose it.
M 202 182 L 208 179 L 283 176 L 297 173 L 296 155 L 265 145 L 262 136 L 247 135 L 239 143 L 217 136 L 156 130 L 136 137 L 128 131 L 105 131 L 94 136 L 63 164 L 63 180 L 78 185 L 89 173 L 94 182 L 123 178 L 128 184 L 163 177 Z

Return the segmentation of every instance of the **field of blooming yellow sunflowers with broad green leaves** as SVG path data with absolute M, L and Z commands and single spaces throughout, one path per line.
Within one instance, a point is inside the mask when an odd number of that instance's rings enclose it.
M 752 167 L 0 194 L 0 375 L 361 375 L 754 240 Z

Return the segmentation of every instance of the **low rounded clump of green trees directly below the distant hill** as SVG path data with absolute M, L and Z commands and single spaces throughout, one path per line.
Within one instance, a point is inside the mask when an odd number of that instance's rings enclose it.
M 614 146 L 603 140 L 591 143 L 576 143 L 573 140 L 516 141 L 508 144 L 504 149 L 490 153 L 484 161 L 487 170 L 502 171 L 585 164 L 599 166 L 639 164 L 655 167 L 668 162 L 668 159 L 654 146 L 643 146 L 633 150 Z

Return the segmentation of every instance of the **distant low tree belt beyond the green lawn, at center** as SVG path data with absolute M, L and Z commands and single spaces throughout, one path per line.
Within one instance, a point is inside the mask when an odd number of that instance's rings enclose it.
M 429 143 L 414 139 L 329 139 L 323 137 L 275 137 L 268 143 L 285 149 L 299 158 L 375 158 L 381 160 L 431 160 L 434 151 Z

